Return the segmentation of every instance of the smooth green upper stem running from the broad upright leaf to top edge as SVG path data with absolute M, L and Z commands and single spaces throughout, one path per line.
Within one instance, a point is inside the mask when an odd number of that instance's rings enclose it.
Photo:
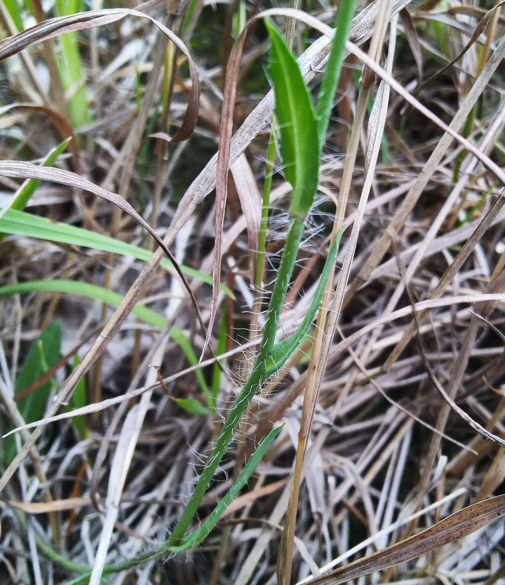
M 331 108 L 335 90 L 337 89 L 340 71 L 345 57 L 345 41 L 351 30 L 352 17 L 356 0 L 342 0 L 338 8 L 337 22 L 335 23 L 335 36 L 331 43 L 330 56 L 326 70 L 324 71 L 319 98 L 317 99 L 316 116 L 317 116 L 317 133 L 319 136 L 319 152 L 323 149 L 324 138 L 330 120 Z

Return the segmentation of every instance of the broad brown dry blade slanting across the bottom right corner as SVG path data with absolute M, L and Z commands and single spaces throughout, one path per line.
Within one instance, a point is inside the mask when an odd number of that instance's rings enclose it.
M 437 524 L 419 532 L 410 538 L 388 546 L 384 550 L 366 556 L 364 559 L 355 560 L 341 569 L 337 569 L 307 581 L 312 585 L 338 585 L 357 579 L 363 575 L 375 573 L 388 567 L 394 567 L 407 560 L 417 559 L 421 555 L 440 546 L 455 542 L 472 532 L 478 531 L 483 526 L 505 515 L 505 495 L 497 495 L 494 498 L 473 504 L 455 514 L 451 514 Z

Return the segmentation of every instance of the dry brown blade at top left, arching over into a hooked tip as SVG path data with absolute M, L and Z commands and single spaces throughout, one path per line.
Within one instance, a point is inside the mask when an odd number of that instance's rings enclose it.
M 23 30 L 19 35 L 11 36 L 1 41 L 0 61 L 19 53 L 19 51 L 26 49 L 26 47 L 40 43 L 43 40 L 49 40 L 68 32 L 75 32 L 78 30 L 90 29 L 95 26 L 105 25 L 120 20 L 127 15 L 149 20 L 153 25 L 160 29 L 160 31 L 167 36 L 188 59 L 192 88 L 189 94 L 189 102 L 186 108 L 184 121 L 182 122 L 181 128 L 179 128 L 177 134 L 171 139 L 172 142 L 186 140 L 192 135 L 193 130 L 195 130 L 196 121 L 198 119 L 198 106 L 200 99 L 200 81 L 198 72 L 196 71 L 195 62 L 191 57 L 188 47 L 186 47 L 177 35 L 152 16 L 148 16 L 137 10 L 116 8 L 79 12 L 69 16 L 60 16 L 58 18 L 44 20 L 44 22 L 41 22 L 38 25 Z

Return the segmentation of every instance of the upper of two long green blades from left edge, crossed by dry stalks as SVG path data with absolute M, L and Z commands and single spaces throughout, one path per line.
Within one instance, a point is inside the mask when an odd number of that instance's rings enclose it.
M 102 250 L 102 252 L 130 256 L 146 262 L 153 257 L 153 252 L 149 250 L 144 250 L 138 246 L 110 238 L 101 233 L 91 232 L 84 228 L 76 228 L 65 223 L 53 222 L 39 215 L 28 214 L 24 211 L 16 211 L 14 209 L 8 209 L 5 215 L 0 218 L 0 232 L 47 240 L 49 242 L 60 242 L 71 246 L 84 246 L 95 250 Z M 171 261 L 166 258 L 161 260 L 161 266 L 168 269 L 174 268 Z M 212 276 L 209 276 L 209 274 L 204 274 L 199 270 L 184 266 L 184 264 L 181 265 L 181 270 L 188 276 L 199 278 L 204 283 L 212 284 Z M 220 288 L 229 297 L 234 298 L 233 292 L 228 287 L 220 284 Z

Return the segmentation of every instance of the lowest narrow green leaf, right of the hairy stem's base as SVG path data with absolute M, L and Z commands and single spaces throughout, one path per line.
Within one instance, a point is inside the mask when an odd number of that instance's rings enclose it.
M 234 481 L 233 485 L 224 495 L 223 499 L 216 505 L 214 510 L 210 513 L 210 516 L 203 522 L 200 528 L 193 531 L 191 534 L 186 536 L 183 539 L 182 544 L 179 546 L 171 546 L 168 550 L 172 550 L 173 552 L 179 552 L 181 550 L 188 550 L 190 548 L 195 548 L 198 546 L 200 542 L 209 535 L 210 531 L 214 528 L 214 526 L 219 521 L 219 518 L 222 517 L 226 508 L 231 504 L 234 498 L 240 493 L 240 490 L 245 486 L 248 482 L 249 478 L 255 472 L 256 468 L 261 462 L 261 459 L 265 455 L 265 451 L 268 449 L 272 441 L 274 441 L 275 437 L 281 432 L 281 429 L 284 425 L 277 426 L 275 429 L 272 429 L 268 435 L 261 441 L 258 448 L 255 450 L 253 455 L 251 455 L 248 462 L 245 464 L 244 469 Z

